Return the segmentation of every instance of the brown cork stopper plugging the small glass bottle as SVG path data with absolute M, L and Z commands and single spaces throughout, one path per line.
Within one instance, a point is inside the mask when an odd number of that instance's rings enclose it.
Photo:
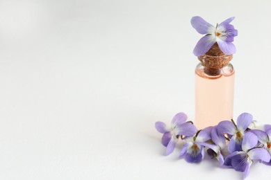
M 232 57 L 233 55 L 225 55 L 220 50 L 218 44 L 215 43 L 207 53 L 200 55 L 197 58 L 202 62 L 202 66 L 206 67 L 206 69 L 204 69 L 205 73 L 208 75 L 218 75 L 220 73 L 220 69 L 227 66 Z

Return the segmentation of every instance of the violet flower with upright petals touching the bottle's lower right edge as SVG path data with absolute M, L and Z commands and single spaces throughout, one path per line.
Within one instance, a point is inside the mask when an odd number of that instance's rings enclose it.
M 223 120 L 217 125 L 217 128 L 222 133 L 227 133 L 231 135 L 231 140 L 229 141 L 228 150 L 229 152 L 235 152 L 242 150 L 243 136 L 247 127 L 252 123 L 253 117 L 251 114 L 243 113 L 237 118 L 237 125 L 233 120 Z

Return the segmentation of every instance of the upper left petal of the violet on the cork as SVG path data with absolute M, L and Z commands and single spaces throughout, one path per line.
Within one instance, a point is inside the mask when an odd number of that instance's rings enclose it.
M 195 28 L 195 30 L 197 30 L 197 32 L 202 35 L 210 34 L 210 30 L 212 28 L 213 30 L 215 29 L 213 25 L 209 24 L 207 21 L 205 21 L 204 19 L 202 19 L 202 17 L 199 16 L 192 17 L 190 22 L 192 27 Z

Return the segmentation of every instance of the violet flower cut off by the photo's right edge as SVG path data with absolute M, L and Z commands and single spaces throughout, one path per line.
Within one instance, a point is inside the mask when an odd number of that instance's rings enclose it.
M 267 129 L 265 132 L 260 129 L 253 129 L 250 132 L 254 133 L 258 137 L 261 147 L 267 150 L 271 155 L 271 129 Z M 271 161 L 265 164 L 271 165 Z

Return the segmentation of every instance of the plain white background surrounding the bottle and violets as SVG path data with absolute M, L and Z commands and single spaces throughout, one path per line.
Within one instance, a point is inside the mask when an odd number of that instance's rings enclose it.
M 154 123 L 194 118 L 190 26 L 235 16 L 234 117 L 270 121 L 271 1 L 0 1 L 0 179 L 240 179 L 165 156 Z M 248 179 L 270 179 L 252 165 Z

